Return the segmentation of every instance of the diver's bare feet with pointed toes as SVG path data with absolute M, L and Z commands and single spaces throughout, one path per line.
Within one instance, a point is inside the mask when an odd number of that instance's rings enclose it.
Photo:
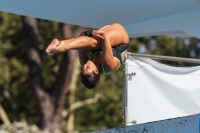
M 46 48 L 46 53 L 48 55 L 53 55 L 54 53 L 57 53 L 58 51 L 56 50 L 56 47 L 60 45 L 60 41 L 58 39 L 53 39 L 51 44 Z

